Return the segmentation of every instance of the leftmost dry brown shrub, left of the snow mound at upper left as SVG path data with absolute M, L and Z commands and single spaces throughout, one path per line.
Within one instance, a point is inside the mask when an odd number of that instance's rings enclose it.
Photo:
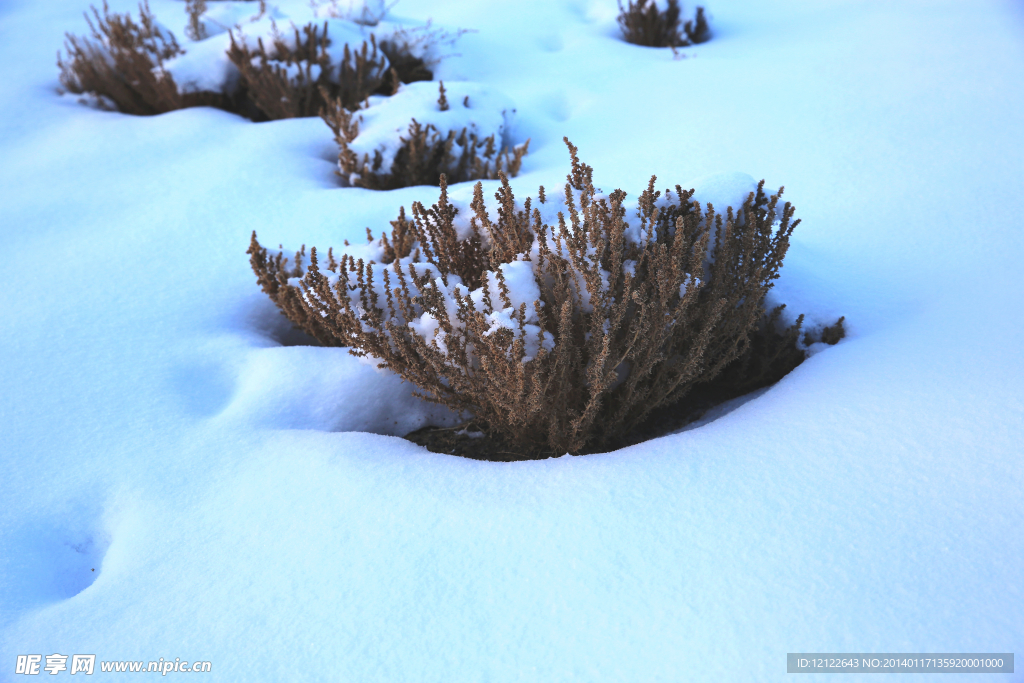
M 91 38 L 65 34 L 67 56 L 57 54 L 60 84 L 70 92 L 93 93 L 125 114 L 152 116 L 188 104 L 164 62 L 183 50 L 173 35 L 156 25 L 148 2 L 139 4 L 139 22 L 131 14 L 86 13 Z

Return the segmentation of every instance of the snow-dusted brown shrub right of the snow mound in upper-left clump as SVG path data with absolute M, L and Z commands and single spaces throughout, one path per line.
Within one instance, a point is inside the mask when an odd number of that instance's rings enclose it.
M 292 34 L 276 33 L 270 47 L 262 38 L 251 48 L 231 36 L 228 57 L 241 74 L 239 87 L 263 117 L 270 120 L 310 117 L 319 114 L 327 100 L 356 109 L 380 89 L 388 61 L 371 34 L 360 48 L 344 43 L 332 50 L 329 23 L 323 28 L 308 24 Z

